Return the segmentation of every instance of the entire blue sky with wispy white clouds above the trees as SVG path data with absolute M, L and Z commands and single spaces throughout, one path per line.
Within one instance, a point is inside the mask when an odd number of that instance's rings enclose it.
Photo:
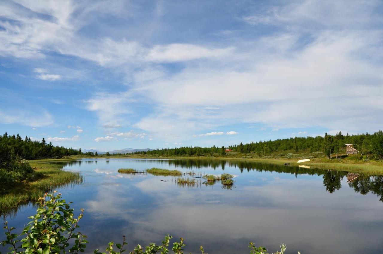
M 383 2 L 0 2 L 0 133 L 228 146 L 383 129 Z

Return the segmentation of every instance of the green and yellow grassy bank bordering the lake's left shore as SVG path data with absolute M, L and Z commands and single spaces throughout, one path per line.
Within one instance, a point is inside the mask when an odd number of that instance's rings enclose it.
M 17 210 L 20 205 L 37 201 L 45 192 L 52 189 L 82 182 L 80 173 L 64 171 L 63 164 L 52 163 L 69 160 L 73 159 L 30 161 L 29 164 L 34 168 L 36 179 L 21 182 L 0 193 L 0 213 L 9 213 Z

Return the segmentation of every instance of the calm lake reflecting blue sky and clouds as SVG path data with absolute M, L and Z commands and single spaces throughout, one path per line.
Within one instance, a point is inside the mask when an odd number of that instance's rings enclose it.
M 235 183 L 186 187 L 173 176 L 117 172 L 153 167 L 194 171 L 191 177 L 229 173 Z M 74 202 L 75 215 L 85 208 L 79 230 L 88 235 L 89 253 L 121 243 L 122 235 L 130 251 L 168 233 L 185 239 L 185 253 L 199 253 L 201 245 L 209 254 L 249 253 L 250 241 L 270 252 L 281 243 L 287 253 L 383 252 L 382 176 L 208 159 L 83 159 L 64 169 L 84 176 L 58 191 Z M 19 232 L 35 210 L 26 205 L 7 220 Z

